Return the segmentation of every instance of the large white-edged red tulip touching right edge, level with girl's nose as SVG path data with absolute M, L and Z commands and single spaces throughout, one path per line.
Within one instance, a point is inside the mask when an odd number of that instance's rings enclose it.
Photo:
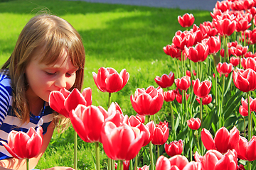
M 238 72 L 233 71 L 233 81 L 240 91 L 254 91 L 256 89 L 256 72 L 252 69 L 238 69 Z

